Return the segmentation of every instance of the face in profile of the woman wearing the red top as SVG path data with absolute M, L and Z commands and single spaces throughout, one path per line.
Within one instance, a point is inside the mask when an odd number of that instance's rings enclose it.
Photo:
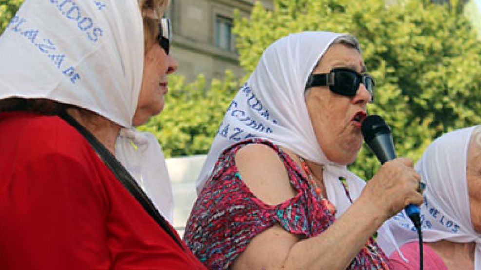
M 162 14 L 158 16 L 161 18 Z M 159 19 L 160 21 L 160 19 Z M 148 31 L 147 31 L 148 33 Z M 142 85 L 137 102 L 137 109 L 132 119 L 133 125 L 141 125 L 149 117 L 164 108 L 164 95 L 167 94 L 167 74 L 177 70 L 177 62 L 158 44 L 156 37 L 146 37 L 146 53 Z

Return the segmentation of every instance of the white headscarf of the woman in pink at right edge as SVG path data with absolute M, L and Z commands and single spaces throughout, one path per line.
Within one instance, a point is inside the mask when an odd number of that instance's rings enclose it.
M 475 128 L 455 130 L 436 139 L 417 162 L 416 170 L 426 183 L 420 207 L 423 241 L 476 242 L 474 264 L 475 270 L 480 270 L 481 234 L 474 231 L 471 221 L 466 178 L 468 146 Z M 399 246 L 418 239 L 404 211 L 392 218 L 390 228 Z M 390 254 L 392 246 L 379 236 L 379 244 Z

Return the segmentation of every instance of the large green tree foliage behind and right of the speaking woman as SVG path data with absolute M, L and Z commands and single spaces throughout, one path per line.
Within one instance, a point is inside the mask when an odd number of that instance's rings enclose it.
M 250 18 L 236 18 L 240 63 L 252 71 L 270 43 L 292 32 L 353 34 L 377 82 L 368 109 L 390 124 L 398 154 L 416 160 L 433 138 L 481 123 L 481 43 L 457 2 L 274 0 L 274 10 L 256 3 Z M 351 169 L 369 179 L 378 166 L 363 146 Z

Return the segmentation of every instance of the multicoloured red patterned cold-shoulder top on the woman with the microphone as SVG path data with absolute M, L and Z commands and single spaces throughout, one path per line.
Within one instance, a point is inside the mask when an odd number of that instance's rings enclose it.
M 248 144 L 265 144 L 276 151 L 286 167 L 290 184 L 297 190 L 293 198 L 271 206 L 249 190 L 235 165 L 235 154 Z M 280 146 L 268 140 L 249 139 L 227 148 L 192 209 L 184 233 L 188 247 L 209 269 L 227 269 L 252 238 L 275 224 L 306 238 L 324 232 L 335 221 L 335 209 L 314 192 L 301 170 Z M 346 196 L 349 196 L 347 189 Z M 384 252 L 371 237 L 348 269 L 389 267 Z

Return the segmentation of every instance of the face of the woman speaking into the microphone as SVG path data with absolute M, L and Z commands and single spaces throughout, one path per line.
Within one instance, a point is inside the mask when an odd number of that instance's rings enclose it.
M 314 74 L 328 73 L 332 68 L 364 71 L 361 54 L 341 43 L 332 45 L 314 69 Z M 326 157 L 338 164 L 350 164 L 356 159 L 363 137 L 361 121 L 366 117 L 366 104 L 371 100 L 363 84 L 356 96 L 346 97 L 331 92 L 328 86 L 308 90 L 306 105 L 317 141 Z

